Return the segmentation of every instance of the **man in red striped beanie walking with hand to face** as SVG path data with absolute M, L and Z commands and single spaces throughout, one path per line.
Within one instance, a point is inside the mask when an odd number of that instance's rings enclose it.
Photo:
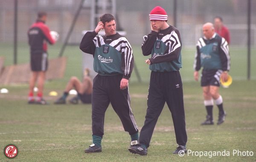
M 167 103 L 172 114 L 176 142 L 174 154 L 186 153 L 186 124 L 183 103 L 183 88 L 180 77 L 181 38 L 180 32 L 167 23 L 166 11 L 156 6 L 149 14 L 151 32 L 143 37 L 141 46 L 145 60 L 151 70 L 148 88 L 148 108 L 140 131 L 139 145 L 130 146 L 131 153 L 148 154 L 150 140 L 163 106 Z

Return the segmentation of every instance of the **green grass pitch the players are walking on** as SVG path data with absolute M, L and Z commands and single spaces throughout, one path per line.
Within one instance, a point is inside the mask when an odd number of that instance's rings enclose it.
M 12 64 L 12 46 L 0 45 L 1 55 L 6 64 Z M 60 45 L 49 46 L 49 57 L 57 57 Z M 256 50 L 252 51 L 253 53 Z M 28 46 L 19 45 L 18 63 L 28 63 Z M 187 149 L 191 151 L 229 151 L 229 156 L 173 155 L 177 144 L 171 113 L 165 105 L 160 115 L 147 156 L 131 154 L 128 151 L 130 136 L 122 128 L 118 116 L 111 106 L 105 115 L 105 135 L 102 153 L 86 154 L 84 149 L 92 143 L 91 105 L 53 105 L 58 97 L 49 97 L 50 91 L 61 95 L 67 80 L 75 75 L 81 78 L 81 51 L 78 47 L 67 47 L 68 57 L 65 77 L 48 81 L 44 95 L 50 105 L 28 105 L 26 103 L 28 85 L 0 85 L 9 94 L 0 94 L 0 162 L 134 162 L 134 161 L 185 161 L 185 162 L 255 162 L 256 161 L 256 65 L 252 64 L 252 78 L 246 78 L 246 50 L 230 49 L 232 65 L 230 74 L 233 84 L 220 88 L 224 98 L 226 121 L 222 125 L 201 126 L 206 111 L 203 105 L 199 82 L 193 81 L 193 59 L 195 50 L 184 49 L 183 78 Z M 147 108 L 148 80 L 150 71 L 143 62 L 139 47 L 134 47 L 134 60 L 143 82 L 138 83 L 135 73 L 130 81 L 131 107 L 141 129 Z M 252 63 L 256 56 L 252 55 Z M 72 97 L 72 96 L 70 96 Z M 218 119 L 218 109 L 214 107 L 214 122 Z M 3 150 L 14 144 L 18 155 L 8 159 Z M 253 151 L 253 156 L 233 156 L 233 150 Z

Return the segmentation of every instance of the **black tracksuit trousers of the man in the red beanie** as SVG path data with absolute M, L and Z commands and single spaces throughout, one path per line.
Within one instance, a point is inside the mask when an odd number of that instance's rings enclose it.
M 140 144 L 149 147 L 157 119 L 167 103 L 172 113 L 178 145 L 186 145 L 186 124 L 183 104 L 183 89 L 179 71 L 151 72 L 148 89 L 148 108 L 145 123 L 140 131 Z

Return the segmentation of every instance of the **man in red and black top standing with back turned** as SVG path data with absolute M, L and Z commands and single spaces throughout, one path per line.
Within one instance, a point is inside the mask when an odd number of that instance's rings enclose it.
M 47 42 L 54 44 L 55 40 L 50 35 L 50 30 L 45 22 L 47 20 L 46 12 L 39 12 L 38 19 L 28 31 L 29 46 L 30 46 L 30 67 L 32 75 L 29 80 L 29 101 L 28 103 L 37 103 L 41 105 L 47 104 L 43 99 L 43 88 L 45 73 L 48 68 L 48 54 L 47 54 Z M 33 89 L 35 82 L 38 80 L 38 94 L 34 99 Z

